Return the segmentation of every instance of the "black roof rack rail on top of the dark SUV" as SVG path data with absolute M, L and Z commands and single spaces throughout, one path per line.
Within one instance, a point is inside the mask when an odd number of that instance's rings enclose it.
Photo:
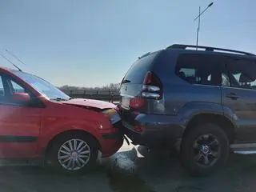
M 182 45 L 182 44 L 174 44 L 172 46 L 168 46 L 166 49 L 184 49 L 186 48 L 200 48 L 205 49 L 206 51 L 214 51 L 214 50 L 222 50 L 223 52 L 231 52 L 231 53 L 237 53 L 237 54 L 246 54 L 246 55 L 255 55 L 248 52 L 240 51 L 240 50 L 228 50 L 228 49 L 222 49 L 217 47 L 211 47 L 211 46 L 191 46 L 191 45 Z

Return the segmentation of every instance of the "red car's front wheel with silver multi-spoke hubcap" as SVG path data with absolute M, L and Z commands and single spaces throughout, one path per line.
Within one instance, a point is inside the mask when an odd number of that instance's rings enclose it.
M 94 168 L 97 156 L 98 145 L 93 137 L 69 133 L 56 138 L 46 156 L 46 164 L 62 174 L 80 175 Z

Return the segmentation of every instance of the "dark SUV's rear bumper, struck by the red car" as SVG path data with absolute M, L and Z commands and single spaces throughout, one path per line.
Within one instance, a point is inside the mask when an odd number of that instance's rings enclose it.
M 139 114 L 136 122 L 142 123 L 143 131 L 134 131 L 134 126 L 122 121 L 122 132 L 136 145 L 154 146 L 155 144 L 169 141 L 176 142 L 182 138 L 185 122 L 177 116 Z

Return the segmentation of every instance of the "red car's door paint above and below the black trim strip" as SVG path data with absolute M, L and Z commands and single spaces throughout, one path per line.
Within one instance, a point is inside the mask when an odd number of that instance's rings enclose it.
M 0 106 L 0 136 L 15 135 L 39 137 L 42 109 L 24 106 Z M 37 156 L 38 143 L 0 142 L 0 158 L 33 158 Z

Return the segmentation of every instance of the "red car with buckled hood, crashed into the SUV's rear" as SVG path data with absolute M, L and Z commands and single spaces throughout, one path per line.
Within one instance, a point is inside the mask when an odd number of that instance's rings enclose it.
M 42 78 L 0 67 L 0 158 L 69 174 L 90 169 L 123 142 L 114 104 L 70 98 Z

